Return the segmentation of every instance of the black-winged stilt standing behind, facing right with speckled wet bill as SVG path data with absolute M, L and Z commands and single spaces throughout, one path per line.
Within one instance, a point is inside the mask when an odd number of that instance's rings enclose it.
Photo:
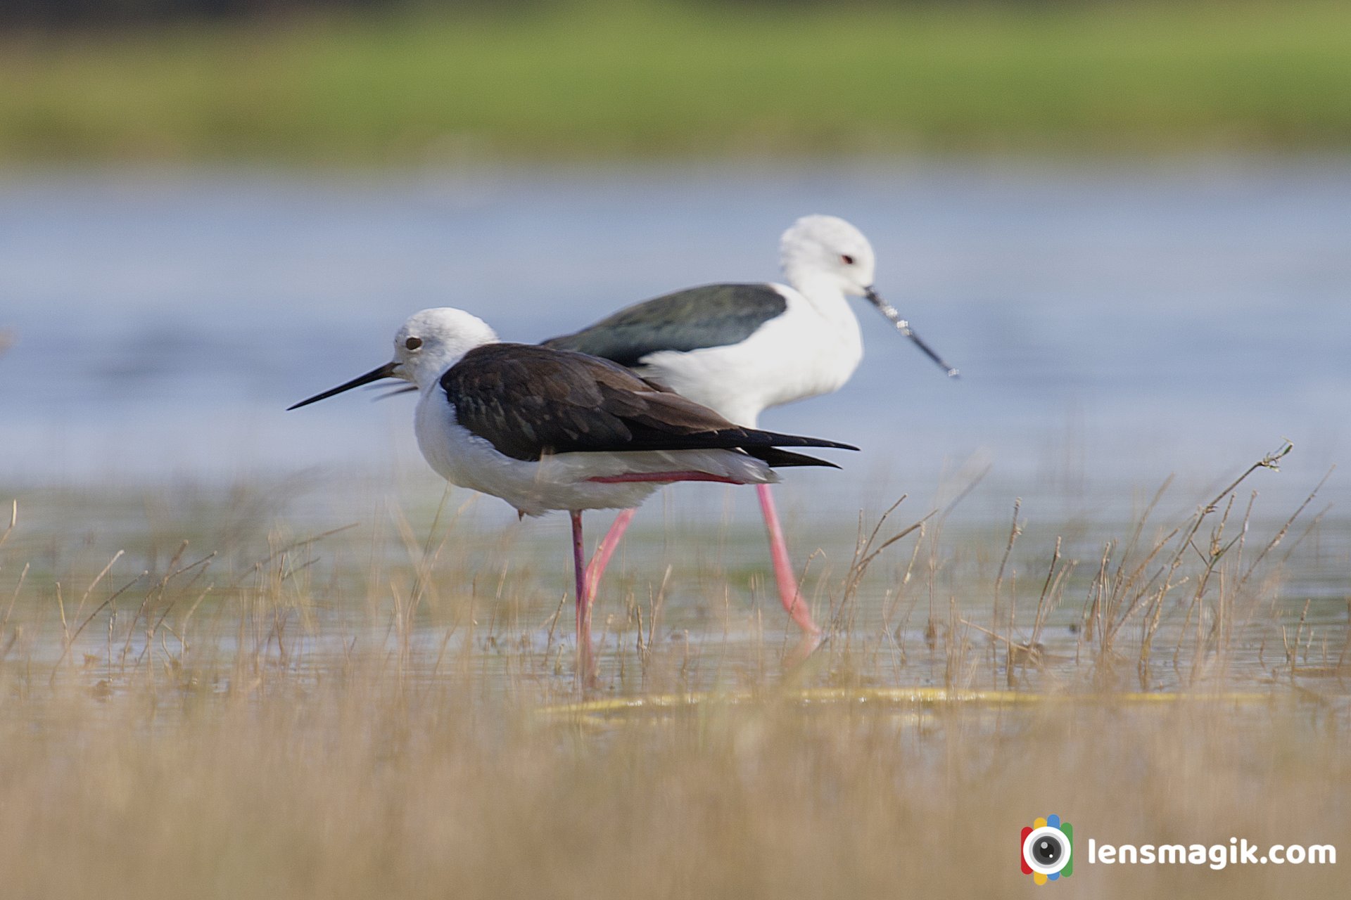
M 780 403 L 844 386 L 863 359 L 848 297 L 865 297 L 950 376 L 958 371 L 920 340 L 873 287 L 873 246 L 835 216 L 804 216 L 784 232 L 780 260 L 789 285 L 705 285 L 621 309 L 544 347 L 601 356 L 755 428 Z M 808 636 L 819 634 L 784 544 L 769 483 L 757 486 L 780 599 Z M 596 557 L 609 559 L 634 511 L 619 514 Z

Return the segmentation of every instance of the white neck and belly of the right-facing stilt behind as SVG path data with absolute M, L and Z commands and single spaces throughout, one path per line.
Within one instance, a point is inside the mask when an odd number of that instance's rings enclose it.
M 842 296 L 813 305 L 790 287 L 775 287 L 788 309 L 740 344 L 658 351 L 638 371 L 747 428 L 770 406 L 838 391 L 863 359 L 848 301 Z

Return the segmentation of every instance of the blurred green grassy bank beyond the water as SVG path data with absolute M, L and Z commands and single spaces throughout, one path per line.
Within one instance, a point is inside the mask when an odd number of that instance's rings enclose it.
M 1351 146 L 1351 4 L 562 3 L 0 38 L 0 159 Z

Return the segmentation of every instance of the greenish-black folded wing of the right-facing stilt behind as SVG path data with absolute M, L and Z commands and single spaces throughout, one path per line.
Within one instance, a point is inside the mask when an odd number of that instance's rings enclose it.
M 770 285 L 705 285 L 628 306 L 542 345 L 638 366 L 662 349 L 738 344 L 786 309 L 788 301 Z

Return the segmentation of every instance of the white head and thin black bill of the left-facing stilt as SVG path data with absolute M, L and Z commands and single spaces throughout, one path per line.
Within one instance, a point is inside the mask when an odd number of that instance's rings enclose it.
M 488 322 L 462 309 L 449 306 L 424 309 L 409 317 L 394 335 L 393 362 L 373 368 L 365 375 L 358 375 L 332 390 L 303 399 L 290 409 L 308 406 L 334 394 L 342 394 L 353 387 L 370 385 L 385 378 L 401 378 L 424 391 L 474 347 L 496 341 L 497 332 L 489 328 Z

